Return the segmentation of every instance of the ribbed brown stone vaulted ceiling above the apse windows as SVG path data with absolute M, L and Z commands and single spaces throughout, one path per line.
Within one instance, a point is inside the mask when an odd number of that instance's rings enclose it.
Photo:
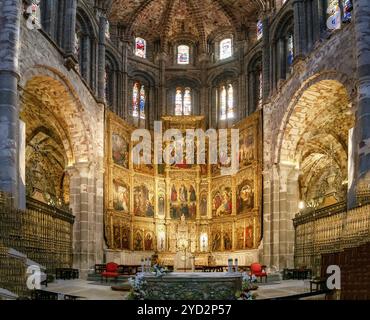
M 113 0 L 110 21 L 147 40 L 189 34 L 205 43 L 218 30 L 255 24 L 269 0 Z

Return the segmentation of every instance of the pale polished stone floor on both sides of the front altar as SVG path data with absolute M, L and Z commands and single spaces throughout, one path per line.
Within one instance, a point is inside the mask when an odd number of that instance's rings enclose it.
M 114 285 L 114 283 L 112 283 Z M 270 283 L 258 283 L 257 300 L 290 296 L 310 291 L 308 280 L 283 280 Z M 82 300 L 126 300 L 127 292 L 113 291 L 109 284 L 86 280 L 57 280 L 50 283 L 48 291 L 81 297 Z M 308 299 L 308 298 L 306 298 Z M 309 299 L 322 300 L 323 296 Z

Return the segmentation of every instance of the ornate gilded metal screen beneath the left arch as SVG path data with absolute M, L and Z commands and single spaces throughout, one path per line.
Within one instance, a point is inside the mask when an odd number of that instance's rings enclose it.
M 70 212 L 30 198 L 25 211 L 14 209 L 11 199 L 0 194 L 0 288 L 27 292 L 26 265 L 8 255 L 10 248 L 45 266 L 48 274 L 72 267 L 73 222 Z

